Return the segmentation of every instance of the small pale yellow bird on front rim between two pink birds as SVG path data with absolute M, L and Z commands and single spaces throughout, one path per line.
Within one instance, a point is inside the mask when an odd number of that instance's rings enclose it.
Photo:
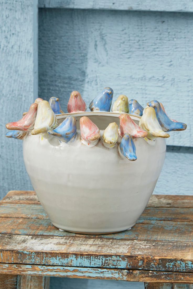
M 109 123 L 102 135 L 102 143 L 107 148 L 112 148 L 117 144 L 118 140 L 118 125 L 116 123 Z

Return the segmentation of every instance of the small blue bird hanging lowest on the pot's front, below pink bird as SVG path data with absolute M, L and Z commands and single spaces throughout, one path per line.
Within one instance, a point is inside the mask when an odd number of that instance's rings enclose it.
M 130 161 L 137 160 L 136 147 L 130 134 L 125 134 L 119 145 L 119 152 Z

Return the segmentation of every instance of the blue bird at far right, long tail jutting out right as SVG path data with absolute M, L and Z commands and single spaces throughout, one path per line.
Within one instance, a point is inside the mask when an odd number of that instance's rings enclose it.
M 161 108 L 161 105 L 157 100 L 152 100 L 148 102 L 147 105 L 155 109 L 156 117 L 163 131 L 177 131 L 186 129 L 187 125 L 185 123 L 172 121 Z

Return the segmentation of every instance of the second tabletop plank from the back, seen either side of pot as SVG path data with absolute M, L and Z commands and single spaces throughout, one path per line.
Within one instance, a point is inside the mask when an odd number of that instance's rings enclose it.
M 4 218 L 49 219 L 38 204 L 0 203 L 0 215 Z M 139 220 L 192 222 L 192 208 L 146 208 Z

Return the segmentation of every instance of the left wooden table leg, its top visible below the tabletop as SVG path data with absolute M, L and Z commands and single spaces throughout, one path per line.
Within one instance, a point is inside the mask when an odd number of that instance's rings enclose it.
M 50 277 L 47 276 L 22 275 L 20 276 L 19 288 L 17 289 L 49 289 L 49 281 Z

